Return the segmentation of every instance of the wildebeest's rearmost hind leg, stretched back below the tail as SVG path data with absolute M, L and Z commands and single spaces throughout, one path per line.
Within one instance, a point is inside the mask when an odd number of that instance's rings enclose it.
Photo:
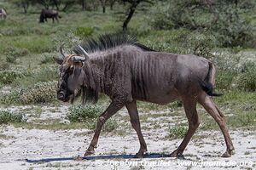
M 212 101 L 212 98 L 206 95 L 201 96 L 199 100 L 201 105 L 207 110 L 207 112 L 214 118 L 214 120 L 218 123 L 222 133 L 224 134 L 224 140 L 227 146 L 227 150 L 224 152 L 222 157 L 230 157 L 232 155 L 232 151 L 235 150 L 231 138 L 230 133 L 227 128 L 227 124 L 224 120 L 224 115 L 221 111 L 219 111 L 218 107 Z

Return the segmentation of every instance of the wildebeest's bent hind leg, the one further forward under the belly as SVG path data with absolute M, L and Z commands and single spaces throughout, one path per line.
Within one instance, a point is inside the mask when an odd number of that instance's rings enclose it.
M 183 151 L 189 144 L 189 140 L 195 133 L 196 128 L 199 126 L 200 122 L 198 119 L 198 114 L 196 111 L 197 101 L 193 98 L 183 99 L 184 110 L 189 121 L 189 129 L 186 133 L 183 142 L 178 146 L 177 150 L 174 150 L 171 154 L 172 157 L 180 157 L 183 155 Z

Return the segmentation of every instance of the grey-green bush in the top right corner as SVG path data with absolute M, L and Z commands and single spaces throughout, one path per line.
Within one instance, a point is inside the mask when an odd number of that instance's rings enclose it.
M 212 33 L 223 47 L 252 46 L 255 41 L 253 26 L 242 18 L 243 8 L 228 1 L 218 1 L 216 21 L 212 22 Z M 251 44 L 250 44 L 251 43 Z

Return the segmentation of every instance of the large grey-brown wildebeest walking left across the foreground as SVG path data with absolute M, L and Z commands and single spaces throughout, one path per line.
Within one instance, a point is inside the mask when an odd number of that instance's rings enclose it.
M 55 59 L 61 65 L 57 97 L 62 101 L 82 95 L 83 102 L 96 102 L 99 93 L 112 100 L 108 109 L 98 117 L 96 132 L 84 156 L 94 152 L 104 122 L 122 107 L 131 117 L 137 132 L 143 157 L 147 145 L 143 139 L 137 100 L 166 105 L 174 100 L 183 101 L 189 129 L 183 142 L 170 156 L 182 156 L 183 150 L 199 126 L 196 104 L 200 103 L 218 122 L 227 146 L 224 157 L 234 150 L 224 115 L 212 101 L 215 84 L 215 67 L 212 62 L 190 54 L 155 52 L 134 38 L 125 35 L 103 35 L 91 39 L 83 47 L 73 49 L 74 54 L 64 54 Z

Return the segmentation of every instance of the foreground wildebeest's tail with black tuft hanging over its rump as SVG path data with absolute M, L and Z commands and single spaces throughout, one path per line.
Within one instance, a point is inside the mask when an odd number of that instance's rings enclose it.
M 207 77 L 204 81 L 200 81 L 201 88 L 209 95 L 209 96 L 221 96 L 223 94 L 215 94 L 213 93 L 214 85 L 215 85 L 215 66 L 209 62 L 209 71 Z

